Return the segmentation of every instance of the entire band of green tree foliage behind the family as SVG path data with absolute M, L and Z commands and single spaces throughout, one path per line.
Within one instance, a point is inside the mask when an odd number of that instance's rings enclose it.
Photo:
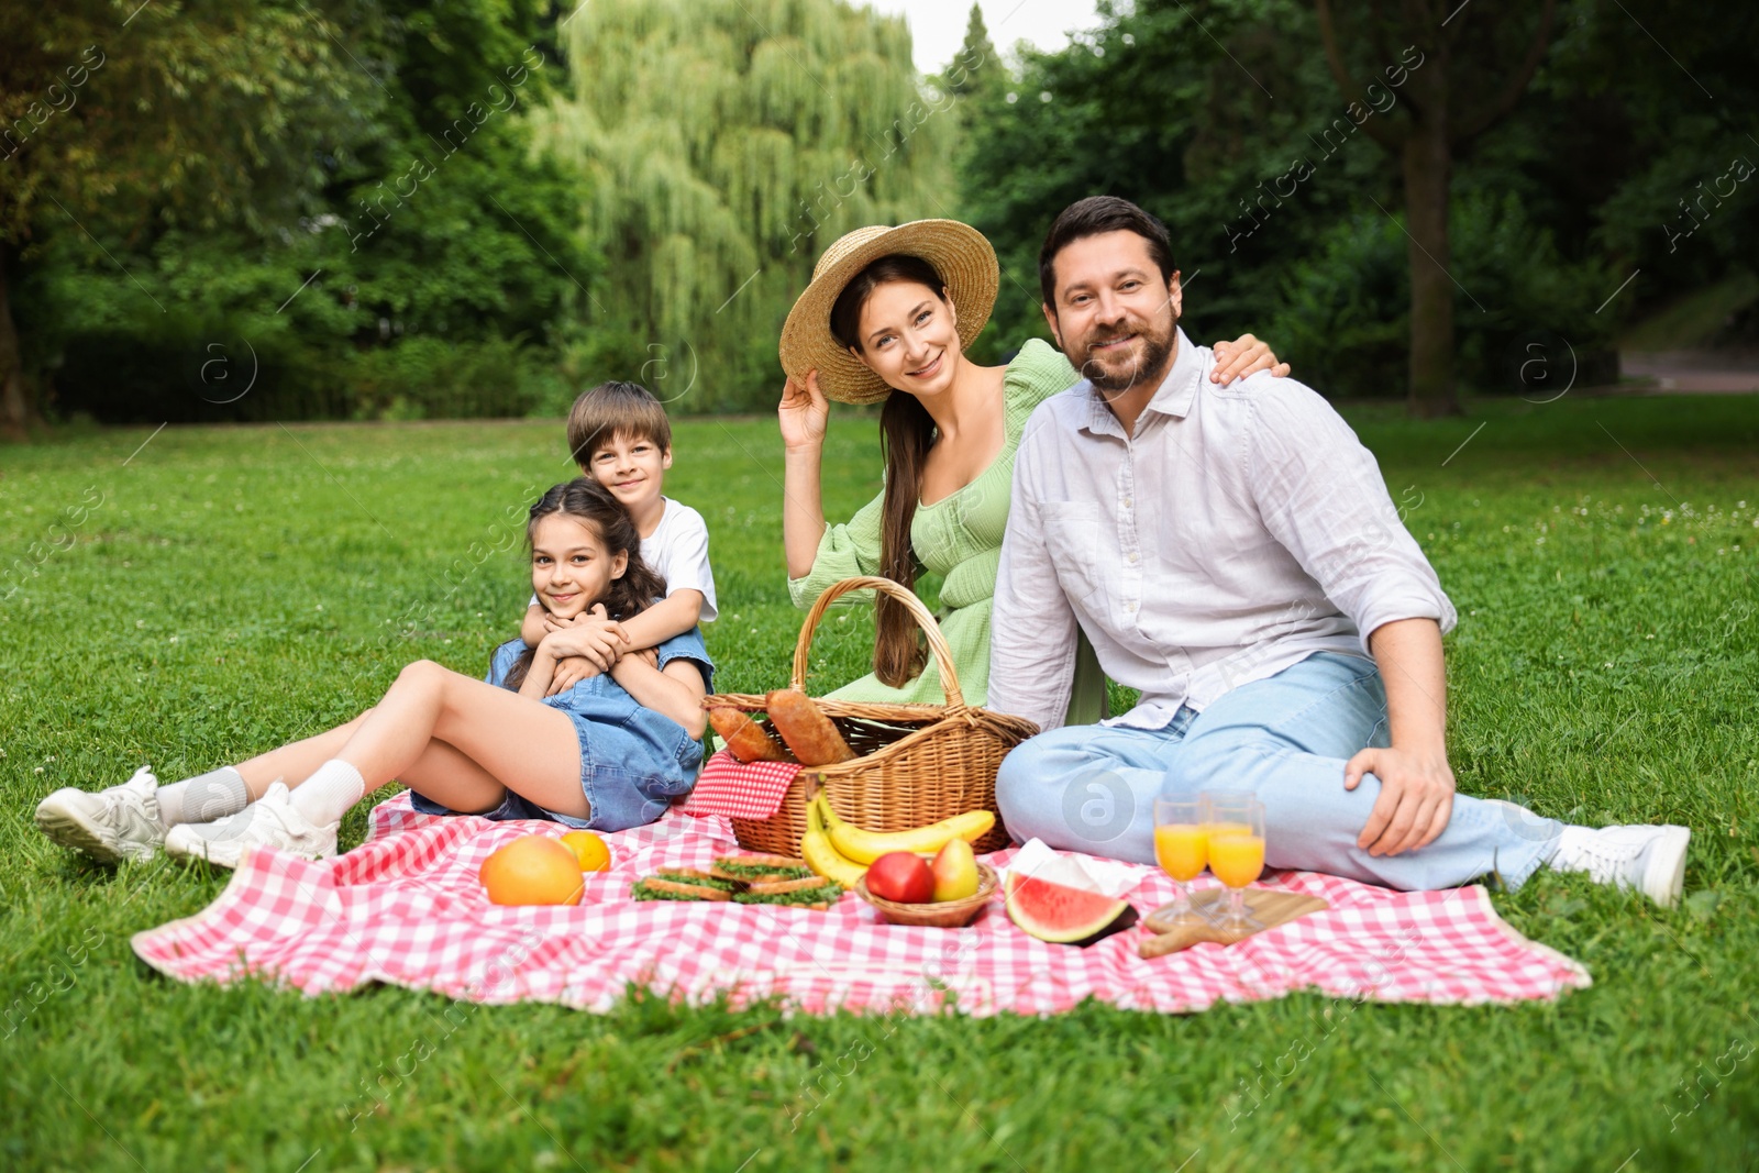
M 1483 4 L 1455 47 L 1518 40 Z M 1453 164 L 1479 392 L 1527 394 L 1536 338 L 1611 382 L 1622 324 L 1759 273 L 1759 9 L 1557 12 L 1514 113 Z M 823 248 L 920 216 L 996 243 L 976 357 L 1001 361 L 1048 334 L 1038 246 L 1094 192 L 1171 227 L 1194 336 L 1254 331 L 1328 394 L 1393 396 L 1412 222 L 1369 139 L 1423 67 L 1369 33 L 1347 65 L 1393 104 L 1358 125 L 1305 0 L 1106 4 L 1006 58 L 973 7 L 931 77 L 901 19 L 846 0 L 37 5 L 0 23 L 0 429 L 517 415 L 610 376 L 674 412 L 762 406 Z M 1516 62 L 1469 56 L 1476 107 Z M 1710 336 L 1759 339 L 1750 301 Z

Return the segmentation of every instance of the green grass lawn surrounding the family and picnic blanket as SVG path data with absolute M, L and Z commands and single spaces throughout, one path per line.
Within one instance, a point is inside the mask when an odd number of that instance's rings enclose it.
M 1460 608 L 1462 788 L 1694 828 L 1676 911 L 1550 874 L 1497 897 L 1594 974 L 1557 1004 L 1296 995 L 1193 1016 L 888 1024 L 176 985 L 128 936 L 223 879 L 86 865 L 37 835 L 33 804 L 142 761 L 176 777 L 310 733 L 413 658 L 480 670 L 526 598 L 508 510 L 566 471 L 561 426 L 165 429 L 139 452 L 150 431 L 130 429 L 0 448 L 0 1166 L 1759 1166 L 1759 401 L 1476 412 L 1351 413 Z M 690 420 L 668 482 L 709 519 L 723 614 L 709 644 L 741 691 L 785 679 L 800 621 L 777 457 L 770 420 Z M 827 480 L 834 515 L 878 487 L 872 420 L 839 417 Z M 869 633 L 827 623 L 814 688 L 858 674 Z M 361 832 L 355 814 L 345 842 Z

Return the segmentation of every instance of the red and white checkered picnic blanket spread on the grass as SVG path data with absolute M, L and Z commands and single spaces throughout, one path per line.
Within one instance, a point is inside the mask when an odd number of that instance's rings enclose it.
M 595 1011 L 631 983 L 688 1002 L 781 995 L 802 1011 L 929 1013 L 953 994 L 971 1015 L 1043 1015 L 1087 997 L 1177 1013 L 1291 990 L 1476 1004 L 1588 985 L 1581 965 L 1506 925 L 1478 886 L 1390 892 L 1274 872 L 1263 886 L 1325 897 L 1330 909 L 1231 948 L 1142 960 L 1140 925 L 1085 950 L 1045 944 L 1015 929 L 999 899 L 959 930 L 887 925 L 853 895 L 828 913 L 628 899 L 637 876 L 735 851 L 721 818 L 672 812 L 607 835 L 612 867 L 588 876 L 577 907 L 498 907 L 477 885 L 489 851 L 531 832 L 559 835 L 556 823 L 426 816 L 399 795 L 373 811 L 371 827 L 366 844 L 334 860 L 252 853 L 211 906 L 135 934 L 135 953 L 183 981 L 253 974 L 304 994 L 389 981 Z M 1006 865 L 1011 855 L 987 858 Z M 1142 872 L 1126 899 L 1147 913 L 1171 899 L 1171 885 Z

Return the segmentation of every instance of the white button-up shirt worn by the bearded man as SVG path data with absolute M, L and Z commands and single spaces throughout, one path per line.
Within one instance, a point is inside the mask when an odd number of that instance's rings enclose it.
M 1135 434 L 1085 380 L 1033 412 L 1001 547 L 990 709 L 1061 725 L 1077 624 L 1106 675 L 1142 691 L 1108 725 L 1138 728 L 1314 652 L 1365 656 L 1395 619 L 1453 626 L 1337 412 L 1291 378 L 1217 387 L 1214 366 L 1179 331 Z

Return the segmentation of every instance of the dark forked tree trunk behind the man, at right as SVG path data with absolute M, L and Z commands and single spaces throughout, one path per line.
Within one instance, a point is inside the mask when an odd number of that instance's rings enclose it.
M 1349 102 L 1349 121 L 1400 160 L 1411 237 L 1409 406 L 1420 419 L 1460 412 L 1453 324 L 1458 283 L 1448 250 L 1453 164 L 1520 102 L 1544 58 L 1557 0 L 1544 0 L 1536 21 L 1522 19 L 1518 7 L 1525 5 L 1414 0 L 1402 5 L 1400 16 L 1383 16 L 1374 5 L 1374 16 L 1361 18 L 1354 39 L 1347 39 L 1330 0 L 1314 0 L 1326 63 Z M 1356 51 L 1347 53 L 1346 44 Z M 1365 72 L 1363 60 L 1381 65 Z M 1509 69 L 1509 62 L 1516 65 Z M 1381 76 L 1402 81 L 1388 88 Z M 1361 77 L 1374 81 L 1363 84 Z M 1376 90 L 1393 95 L 1404 116 L 1377 116 L 1383 111 Z

